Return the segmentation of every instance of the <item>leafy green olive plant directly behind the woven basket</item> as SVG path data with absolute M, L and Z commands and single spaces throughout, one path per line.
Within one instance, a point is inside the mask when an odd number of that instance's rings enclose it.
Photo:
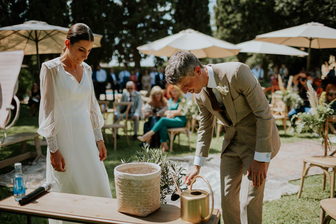
M 174 195 L 176 187 L 171 174 L 174 175 L 177 185 L 180 191 L 186 190 L 187 188 L 181 188 L 182 178 L 185 176 L 182 166 L 178 166 L 177 161 L 170 161 L 165 154 L 160 149 L 149 149 L 149 147 L 142 146 L 140 151 L 135 152 L 136 159 L 138 163 L 155 163 L 161 166 L 161 183 L 160 183 L 160 195 L 161 203 L 167 204 L 166 197 L 169 194 Z M 121 160 L 123 164 L 127 163 L 125 160 Z M 177 198 L 178 199 L 178 198 Z

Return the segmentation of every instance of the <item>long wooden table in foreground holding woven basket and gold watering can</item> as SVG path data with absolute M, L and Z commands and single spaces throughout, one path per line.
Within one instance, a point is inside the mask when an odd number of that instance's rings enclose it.
M 27 190 L 27 193 L 32 190 Z M 14 196 L 0 201 L 0 211 L 27 216 L 52 218 L 64 221 L 96 224 L 185 224 L 180 219 L 180 208 L 161 204 L 161 207 L 146 217 L 138 217 L 117 211 L 117 199 L 78 194 L 47 192 L 32 203 L 20 206 Z M 206 224 L 220 223 L 220 211 L 214 209 Z

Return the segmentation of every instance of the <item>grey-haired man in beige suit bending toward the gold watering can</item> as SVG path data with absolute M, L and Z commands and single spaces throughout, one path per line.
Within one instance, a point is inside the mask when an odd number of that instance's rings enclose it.
M 220 163 L 224 223 L 261 223 L 263 183 L 280 137 L 259 82 L 246 64 L 202 65 L 188 51 L 174 53 L 165 72 L 168 83 L 195 93 L 200 109 L 194 167 L 185 182 L 190 184 L 204 166 L 218 118 L 225 125 Z

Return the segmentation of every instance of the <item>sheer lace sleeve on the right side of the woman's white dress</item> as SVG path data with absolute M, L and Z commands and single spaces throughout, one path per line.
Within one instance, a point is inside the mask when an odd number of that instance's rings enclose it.
M 88 69 L 88 74 L 91 74 L 91 69 L 89 66 L 86 67 Z M 101 133 L 101 128 L 104 126 L 104 119 L 101 115 L 100 107 L 98 104 L 98 101 L 96 97 L 94 96 L 94 90 L 93 90 L 93 83 L 91 76 L 90 81 L 91 81 L 91 86 L 92 86 L 92 91 L 91 91 L 91 96 L 90 96 L 90 102 L 89 102 L 89 108 L 90 108 L 90 119 L 92 123 L 92 128 L 93 128 L 93 133 L 94 137 L 96 138 L 96 141 L 103 140 L 103 135 Z

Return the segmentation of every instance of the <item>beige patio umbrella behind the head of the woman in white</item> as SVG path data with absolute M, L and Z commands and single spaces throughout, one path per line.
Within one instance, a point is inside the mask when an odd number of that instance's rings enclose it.
M 30 20 L 23 24 L 0 28 L 0 51 L 24 50 L 25 55 L 61 53 L 69 28 Z M 93 47 L 100 47 L 101 35 L 94 34 Z

